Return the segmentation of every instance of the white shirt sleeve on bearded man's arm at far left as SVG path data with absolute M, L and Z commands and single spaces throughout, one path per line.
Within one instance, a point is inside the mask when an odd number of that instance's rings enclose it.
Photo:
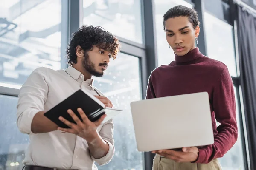
M 17 104 L 17 126 L 22 133 L 32 133 L 31 123 L 36 113 L 44 111 L 48 85 L 44 68 L 37 68 L 20 88 Z

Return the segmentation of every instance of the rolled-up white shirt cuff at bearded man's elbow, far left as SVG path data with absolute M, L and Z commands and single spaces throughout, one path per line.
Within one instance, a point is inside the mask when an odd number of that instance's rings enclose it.
M 32 133 L 31 131 L 31 125 L 32 125 L 32 121 L 34 119 L 34 116 L 36 113 L 38 113 L 39 111 L 38 110 L 27 110 L 27 111 L 24 111 L 18 121 L 17 121 L 17 126 L 20 130 L 20 132 L 22 133 L 26 133 L 26 134 L 30 134 Z M 34 134 L 34 133 L 32 133 Z

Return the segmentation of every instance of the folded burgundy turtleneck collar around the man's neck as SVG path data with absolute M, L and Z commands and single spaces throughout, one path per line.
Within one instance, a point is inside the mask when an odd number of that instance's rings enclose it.
M 199 51 L 199 48 L 196 47 L 183 56 L 178 56 L 175 54 L 175 63 L 178 65 L 182 65 L 187 62 L 192 62 L 201 56 L 203 56 L 203 54 Z

